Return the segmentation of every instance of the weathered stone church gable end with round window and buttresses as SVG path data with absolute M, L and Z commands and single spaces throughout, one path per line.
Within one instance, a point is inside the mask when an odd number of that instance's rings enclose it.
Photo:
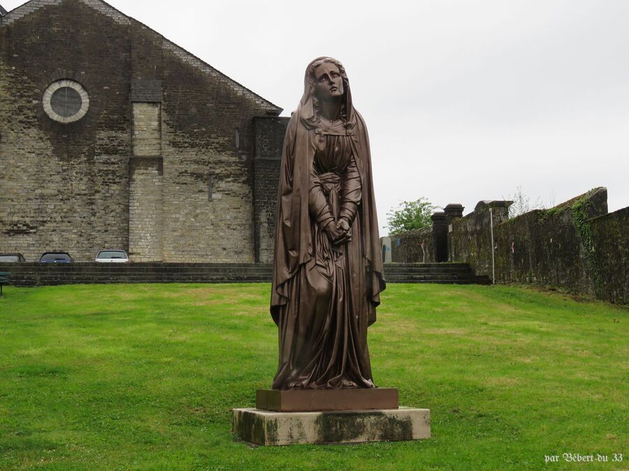
M 1 253 L 270 261 L 280 107 L 100 0 L 0 15 Z

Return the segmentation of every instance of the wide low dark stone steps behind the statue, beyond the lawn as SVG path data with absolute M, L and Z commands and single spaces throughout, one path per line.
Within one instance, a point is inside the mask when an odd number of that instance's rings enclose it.
M 129 263 L 129 264 L 0 264 L 10 271 L 13 286 L 50 286 L 102 283 L 270 283 L 270 264 Z M 467 264 L 387 264 L 387 283 L 489 284 Z

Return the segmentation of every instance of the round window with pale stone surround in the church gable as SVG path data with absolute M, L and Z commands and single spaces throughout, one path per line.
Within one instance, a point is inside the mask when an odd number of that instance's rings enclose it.
M 87 114 L 89 95 L 79 82 L 57 80 L 44 91 L 43 107 L 51 119 L 73 123 Z

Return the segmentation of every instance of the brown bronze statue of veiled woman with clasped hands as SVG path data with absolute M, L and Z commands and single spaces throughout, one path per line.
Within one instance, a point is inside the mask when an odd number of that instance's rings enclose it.
M 284 140 L 270 311 L 273 389 L 375 387 L 367 328 L 384 290 L 367 128 L 345 68 L 319 57 Z

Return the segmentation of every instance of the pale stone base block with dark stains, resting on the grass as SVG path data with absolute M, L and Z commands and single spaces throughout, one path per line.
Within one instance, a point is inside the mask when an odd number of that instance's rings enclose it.
M 419 440 L 431 437 L 431 411 L 399 408 L 338 412 L 234 409 L 232 432 L 260 445 Z

